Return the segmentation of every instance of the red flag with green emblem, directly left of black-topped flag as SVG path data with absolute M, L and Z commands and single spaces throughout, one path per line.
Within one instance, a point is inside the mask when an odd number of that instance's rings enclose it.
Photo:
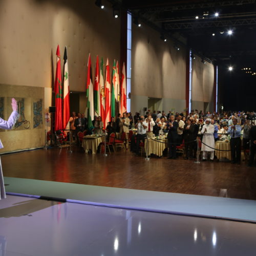
M 59 46 L 56 51 L 56 74 L 54 82 L 54 92 L 55 92 L 55 131 L 63 129 L 62 123 L 62 84 L 61 84 L 61 70 L 60 70 L 60 52 Z

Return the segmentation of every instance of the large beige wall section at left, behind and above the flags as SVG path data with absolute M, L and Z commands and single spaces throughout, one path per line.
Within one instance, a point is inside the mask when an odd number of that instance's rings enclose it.
M 70 90 L 85 91 L 89 53 L 93 73 L 97 54 L 111 67 L 120 58 L 120 19 L 103 2 L 104 10 L 94 0 L 1 0 L 0 83 L 51 87 L 59 44 L 61 62 L 68 47 Z

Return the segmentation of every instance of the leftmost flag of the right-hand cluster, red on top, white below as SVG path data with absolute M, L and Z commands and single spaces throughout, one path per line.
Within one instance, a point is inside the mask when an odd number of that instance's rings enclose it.
M 88 127 L 91 127 L 93 125 L 92 121 L 94 119 L 92 80 L 93 78 L 92 78 L 91 55 L 89 54 L 88 63 L 87 63 L 87 85 L 86 85 Z

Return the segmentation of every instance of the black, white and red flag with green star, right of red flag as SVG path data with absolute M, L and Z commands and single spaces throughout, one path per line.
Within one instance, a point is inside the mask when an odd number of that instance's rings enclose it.
M 67 47 L 65 46 L 64 52 L 64 72 L 63 72 L 63 129 L 69 129 L 69 116 L 70 116 L 70 105 L 69 105 L 69 67 L 68 67 L 68 55 Z

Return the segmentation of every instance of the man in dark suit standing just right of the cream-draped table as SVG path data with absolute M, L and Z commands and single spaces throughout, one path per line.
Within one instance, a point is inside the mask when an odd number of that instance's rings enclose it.
M 169 157 L 168 159 L 176 159 L 176 145 L 178 141 L 178 122 L 174 120 L 174 115 L 170 115 L 170 122 L 167 125 L 168 130 L 168 148 L 169 148 Z

